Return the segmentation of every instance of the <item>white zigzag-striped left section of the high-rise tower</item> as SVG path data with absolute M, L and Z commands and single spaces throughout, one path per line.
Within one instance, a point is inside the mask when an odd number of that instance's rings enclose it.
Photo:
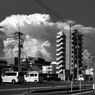
M 56 36 L 56 61 L 58 63 L 57 73 L 65 75 L 66 61 L 66 36 L 60 31 Z

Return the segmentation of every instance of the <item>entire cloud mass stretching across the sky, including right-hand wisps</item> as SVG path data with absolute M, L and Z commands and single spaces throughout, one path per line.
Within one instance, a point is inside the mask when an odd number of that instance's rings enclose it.
M 68 22 L 74 24 L 73 21 L 69 20 Z M 11 15 L 0 22 L 0 26 L 3 26 L 0 30 L 8 37 L 19 30 L 25 35 L 22 56 L 43 57 L 46 60 L 55 60 L 56 33 L 60 30 L 69 31 L 70 29 L 66 23 L 51 22 L 48 14 L 39 13 Z M 87 35 L 95 33 L 95 29 L 92 27 L 83 25 L 74 25 L 73 27 Z M 92 37 L 92 35 L 90 36 Z M 88 41 L 84 41 L 85 48 L 87 48 Z M 5 57 L 17 56 L 18 45 L 14 38 L 6 38 L 3 43 Z

